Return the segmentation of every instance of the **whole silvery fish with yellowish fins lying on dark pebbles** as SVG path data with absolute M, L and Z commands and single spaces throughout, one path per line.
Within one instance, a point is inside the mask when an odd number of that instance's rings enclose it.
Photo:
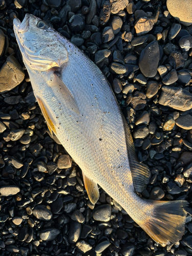
M 50 133 L 82 170 L 90 201 L 105 190 L 154 241 L 178 242 L 188 202 L 155 201 L 141 192 L 151 177 L 138 161 L 129 125 L 95 63 L 44 20 L 26 14 L 14 33 Z

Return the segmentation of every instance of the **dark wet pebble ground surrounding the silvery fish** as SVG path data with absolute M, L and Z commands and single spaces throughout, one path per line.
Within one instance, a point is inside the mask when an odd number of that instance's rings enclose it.
M 79 167 L 50 138 L 13 32 L 34 14 L 86 53 L 113 86 L 140 162 L 142 197 L 192 202 L 192 1 L 0 1 L 0 254 L 186 256 L 157 245 L 100 188 L 92 205 Z

